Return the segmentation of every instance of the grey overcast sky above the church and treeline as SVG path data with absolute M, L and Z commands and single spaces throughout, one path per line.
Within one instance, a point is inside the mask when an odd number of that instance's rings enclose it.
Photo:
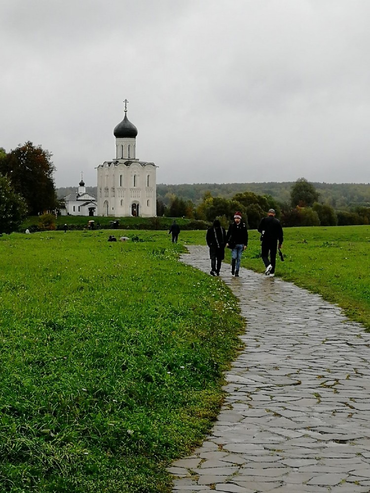
M 0 147 L 94 186 L 127 98 L 157 183 L 368 183 L 369 25 L 369 0 L 2 0 Z

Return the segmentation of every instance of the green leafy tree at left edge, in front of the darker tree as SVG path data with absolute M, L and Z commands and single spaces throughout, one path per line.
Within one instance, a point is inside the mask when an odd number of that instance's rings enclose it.
M 26 217 L 27 206 L 6 176 L 0 175 L 0 233 L 16 231 Z

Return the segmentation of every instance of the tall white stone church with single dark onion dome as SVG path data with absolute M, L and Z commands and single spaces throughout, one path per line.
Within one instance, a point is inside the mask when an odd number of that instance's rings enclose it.
M 115 159 L 105 161 L 98 171 L 99 216 L 156 215 L 156 168 L 154 163 L 136 158 L 138 130 L 125 116 L 114 128 Z

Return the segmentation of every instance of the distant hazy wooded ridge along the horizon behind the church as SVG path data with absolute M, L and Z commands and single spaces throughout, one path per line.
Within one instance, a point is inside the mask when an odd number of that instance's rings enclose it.
M 206 192 L 213 197 L 230 199 L 239 192 L 254 192 L 258 195 L 270 195 L 280 204 L 290 203 L 290 192 L 293 181 L 266 183 L 194 183 L 182 185 L 157 184 L 157 200 L 169 205 L 176 196 L 191 200 L 199 205 Z M 328 204 L 336 210 L 351 209 L 357 206 L 370 207 L 370 183 L 315 183 L 319 192 L 319 202 Z M 57 189 L 58 199 L 77 191 L 76 187 L 61 187 Z M 97 187 L 86 187 L 86 192 L 97 197 Z

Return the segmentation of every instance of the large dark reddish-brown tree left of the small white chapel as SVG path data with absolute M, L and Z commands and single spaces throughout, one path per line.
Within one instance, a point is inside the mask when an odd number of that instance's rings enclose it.
M 49 151 L 28 141 L 0 159 L 0 173 L 8 176 L 14 190 L 24 197 L 31 215 L 56 208 L 51 156 Z

